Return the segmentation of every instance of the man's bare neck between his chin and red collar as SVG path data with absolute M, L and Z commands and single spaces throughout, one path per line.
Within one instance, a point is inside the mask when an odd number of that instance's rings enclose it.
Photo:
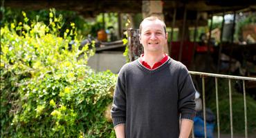
M 154 63 L 161 61 L 165 57 L 163 52 L 145 52 L 143 61 L 146 61 L 149 66 L 154 66 Z

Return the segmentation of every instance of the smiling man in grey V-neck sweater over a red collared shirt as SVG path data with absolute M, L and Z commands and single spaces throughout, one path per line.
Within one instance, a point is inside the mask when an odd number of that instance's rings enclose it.
M 111 109 L 116 137 L 189 137 L 196 90 L 187 68 L 163 52 L 165 23 L 157 17 L 145 18 L 140 23 L 140 43 L 144 55 L 125 64 L 118 74 Z

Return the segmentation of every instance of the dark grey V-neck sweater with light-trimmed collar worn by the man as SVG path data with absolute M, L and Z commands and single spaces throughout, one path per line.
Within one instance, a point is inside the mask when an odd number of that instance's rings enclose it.
M 113 96 L 113 125 L 125 124 L 126 138 L 177 138 L 179 118 L 195 116 L 195 91 L 187 68 L 170 57 L 154 70 L 138 59 L 127 63 Z

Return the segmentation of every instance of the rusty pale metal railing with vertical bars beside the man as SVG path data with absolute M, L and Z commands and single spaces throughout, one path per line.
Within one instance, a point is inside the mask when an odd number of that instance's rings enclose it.
M 218 95 L 218 78 L 226 78 L 228 79 L 228 88 L 229 88 L 229 104 L 230 104 L 230 133 L 231 138 L 233 138 L 233 120 L 232 120 L 232 89 L 231 89 L 231 79 L 239 79 L 243 81 L 243 94 L 244 94 L 244 129 L 245 129 L 245 137 L 248 137 L 248 128 L 247 128 L 247 110 L 246 110 L 246 88 L 245 81 L 256 81 L 255 77 L 239 77 L 232 75 L 219 75 L 213 73 L 205 73 L 205 72 L 194 72 L 189 71 L 190 75 L 199 75 L 202 78 L 202 94 L 203 94 L 203 124 L 204 124 L 204 134 L 205 138 L 207 137 L 206 131 L 206 112 L 205 112 L 205 77 L 214 77 L 215 78 L 215 92 L 216 92 L 216 106 L 217 106 L 217 130 L 218 130 L 218 138 L 220 137 L 220 126 L 219 126 L 219 95 Z M 194 138 L 194 132 L 192 133 L 192 137 Z

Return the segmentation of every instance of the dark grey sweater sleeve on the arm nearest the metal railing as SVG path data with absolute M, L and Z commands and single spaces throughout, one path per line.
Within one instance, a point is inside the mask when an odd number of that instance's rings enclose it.
M 190 119 L 193 121 L 196 110 L 195 110 L 195 88 L 192 82 L 191 76 L 188 73 L 187 68 L 181 69 L 181 77 L 179 77 L 179 100 L 178 109 L 181 112 L 181 119 Z

